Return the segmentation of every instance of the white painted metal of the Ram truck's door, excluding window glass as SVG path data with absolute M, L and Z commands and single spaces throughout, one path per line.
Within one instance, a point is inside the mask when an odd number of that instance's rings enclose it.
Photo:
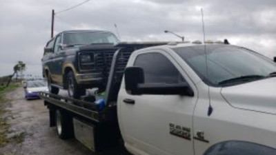
M 130 95 L 121 89 L 118 97 L 119 124 L 126 147 L 133 154 L 193 154 L 193 141 L 183 140 L 170 134 L 170 123 L 185 127 L 193 125 L 193 110 L 197 101 L 197 90 L 174 59 L 162 50 L 177 70 L 190 83 L 195 96 L 179 95 Z M 139 52 L 143 54 L 143 52 Z M 133 64 L 133 61 L 130 59 Z M 124 81 L 124 79 L 123 79 Z M 121 88 L 124 84 L 121 85 Z M 124 103 L 124 99 L 135 100 L 135 105 Z M 193 130 L 193 129 L 190 129 Z M 140 153 L 139 153 L 140 152 Z

